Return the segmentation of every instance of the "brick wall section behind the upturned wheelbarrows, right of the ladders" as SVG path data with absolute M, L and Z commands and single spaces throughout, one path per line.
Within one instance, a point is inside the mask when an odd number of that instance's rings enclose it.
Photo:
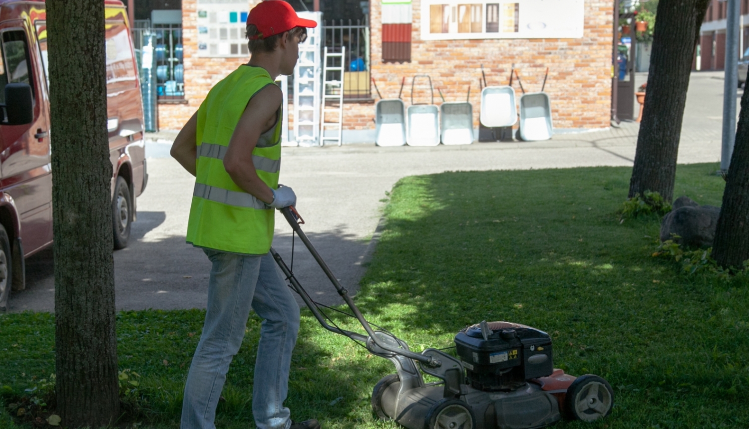
M 413 0 L 411 62 L 383 64 L 380 40 L 380 7 L 372 0 L 370 31 L 372 34 L 372 77 L 385 98 L 397 97 L 401 78 L 406 76 L 404 97 L 410 104 L 411 81 L 416 74 L 431 77 L 446 101 L 466 100 L 470 85 L 473 103 L 473 125 L 479 126 L 481 108 L 479 79 L 483 64 L 488 85 L 506 85 L 512 64 L 521 76 L 526 91 L 541 90 L 546 67 L 549 76 L 545 92 L 551 97 L 554 127 L 601 128 L 610 123 L 611 41 L 613 7 L 608 1 L 585 1 L 585 27 L 580 39 L 487 39 L 487 40 L 421 40 L 421 1 Z M 428 24 L 427 24 L 428 25 Z M 521 94 L 517 80 L 513 84 Z M 437 88 L 435 104 L 440 104 Z M 375 93 L 376 94 L 376 93 Z M 426 80 L 416 80 L 414 102 L 430 101 Z M 369 109 L 369 127 L 373 127 L 372 106 L 351 109 L 359 116 Z M 348 112 L 348 111 L 347 111 Z

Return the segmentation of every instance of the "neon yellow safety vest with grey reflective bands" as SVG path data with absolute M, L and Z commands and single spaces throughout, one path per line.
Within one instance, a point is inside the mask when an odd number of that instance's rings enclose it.
M 224 168 L 224 156 L 249 99 L 275 85 L 261 67 L 240 66 L 208 92 L 198 109 L 197 175 L 187 224 L 187 243 L 222 252 L 264 255 L 273 242 L 275 210 L 244 192 Z M 276 127 L 263 133 L 252 164 L 267 186 L 278 189 L 282 109 Z

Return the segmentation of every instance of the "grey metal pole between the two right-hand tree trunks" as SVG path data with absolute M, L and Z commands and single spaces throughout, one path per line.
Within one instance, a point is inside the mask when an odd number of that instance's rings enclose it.
M 736 141 L 736 90 L 739 86 L 739 0 L 728 0 L 726 13 L 726 65 L 723 82 L 723 145 L 721 171 L 728 171 Z

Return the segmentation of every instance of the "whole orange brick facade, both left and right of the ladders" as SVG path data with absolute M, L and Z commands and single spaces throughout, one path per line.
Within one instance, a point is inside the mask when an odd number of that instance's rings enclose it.
M 251 8 L 256 1 L 248 1 Z M 246 62 L 246 58 L 198 57 L 197 0 L 182 0 L 184 37 L 184 100 L 160 101 L 158 126 L 178 130 L 198 109 L 212 85 Z M 568 39 L 468 39 L 422 40 L 421 3 L 413 0 L 410 61 L 383 62 L 381 0 L 369 8 L 370 73 L 384 98 L 395 98 L 406 78 L 403 100 L 410 105 L 413 76 L 428 75 L 434 84 L 434 103 L 440 104 L 439 88 L 446 101 L 466 100 L 470 86 L 473 124 L 479 126 L 479 79 L 483 64 L 488 85 L 506 85 L 515 69 L 528 92 L 540 91 L 546 67 L 545 92 L 551 97 L 557 130 L 596 129 L 610 124 L 613 7 L 610 1 L 585 0 L 583 37 Z M 520 86 L 513 84 L 518 96 Z M 345 103 L 343 128 L 354 141 L 374 136 L 377 91 L 372 98 Z M 425 79 L 413 88 L 415 103 L 431 101 Z M 291 108 L 289 109 L 291 111 Z M 289 118 L 293 121 L 293 118 Z M 291 124 L 290 124 L 291 127 Z M 346 141 L 345 137 L 345 141 Z M 352 139 L 348 139 L 352 141 Z

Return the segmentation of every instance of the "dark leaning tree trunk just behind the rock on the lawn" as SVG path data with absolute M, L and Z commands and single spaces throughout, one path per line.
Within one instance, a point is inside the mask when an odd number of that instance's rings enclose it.
M 655 19 L 643 120 L 629 196 L 658 192 L 673 198 L 676 156 L 694 49 L 708 0 L 661 0 Z

